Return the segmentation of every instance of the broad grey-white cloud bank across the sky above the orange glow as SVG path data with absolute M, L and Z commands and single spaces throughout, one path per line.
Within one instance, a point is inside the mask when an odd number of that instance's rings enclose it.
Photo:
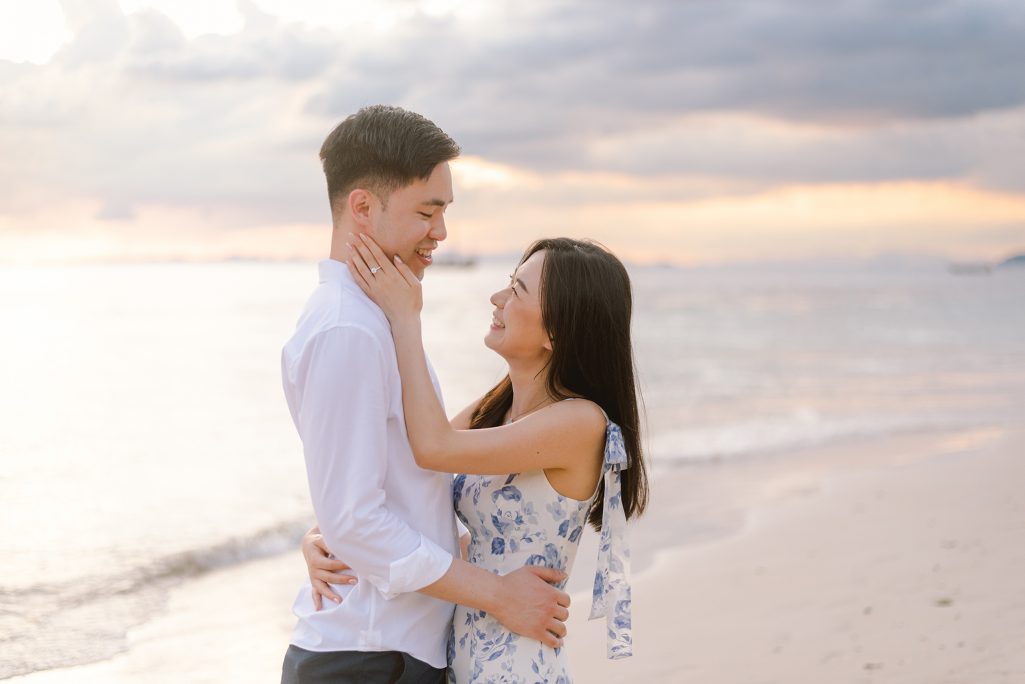
M 0 61 L 0 215 L 74 199 L 111 223 L 323 223 L 320 143 L 378 102 L 509 169 L 526 185 L 501 201 L 542 214 L 792 185 L 1025 192 L 1018 2 L 394 0 L 340 28 L 243 2 L 238 33 L 194 38 L 114 0 L 64 7 L 48 64 Z

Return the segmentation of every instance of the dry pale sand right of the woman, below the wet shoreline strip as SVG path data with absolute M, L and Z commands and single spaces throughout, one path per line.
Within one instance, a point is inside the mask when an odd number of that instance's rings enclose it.
M 909 451 L 892 452 L 890 466 L 822 479 L 791 471 L 793 495 L 755 507 L 740 534 L 660 558 L 636 581 L 634 657 L 591 655 L 603 635 L 578 627 L 574 675 L 722 684 L 1025 681 L 1022 434 L 900 442 Z M 850 464 L 857 450 L 835 455 Z

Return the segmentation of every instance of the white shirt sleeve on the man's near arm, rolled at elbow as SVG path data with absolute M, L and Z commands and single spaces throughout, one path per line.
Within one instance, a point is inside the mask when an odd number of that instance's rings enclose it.
M 360 326 L 319 333 L 304 355 L 298 427 L 314 512 L 328 548 L 393 598 L 437 581 L 452 555 L 388 510 L 383 354 L 373 333 Z

